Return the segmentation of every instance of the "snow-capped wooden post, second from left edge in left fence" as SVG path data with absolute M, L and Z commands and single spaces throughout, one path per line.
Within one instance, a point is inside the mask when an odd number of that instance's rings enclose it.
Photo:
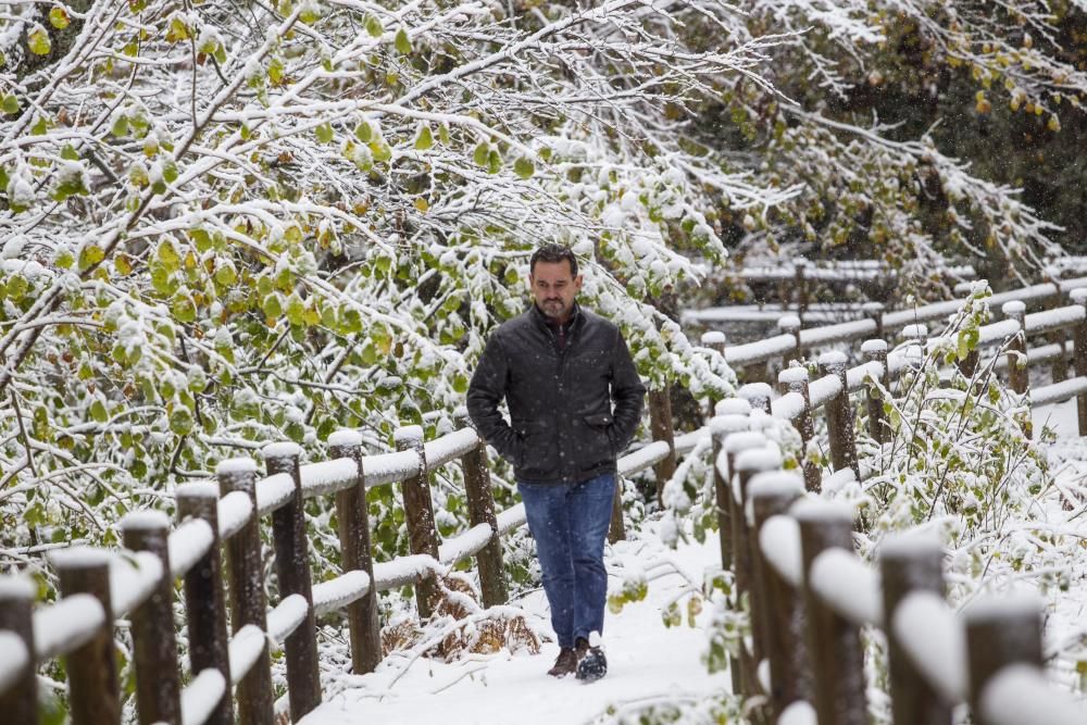
M 61 593 L 90 595 L 105 612 L 98 632 L 66 658 L 68 707 L 72 725 L 118 725 L 121 699 L 117 659 L 113 648 L 113 600 L 110 597 L 110 561 L 102 549 L 75 547 L 53 552 Z

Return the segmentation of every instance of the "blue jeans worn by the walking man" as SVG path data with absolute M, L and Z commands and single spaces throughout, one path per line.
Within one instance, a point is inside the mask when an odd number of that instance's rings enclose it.
M 603 633 L 608 600 L 604 539 L 615 474 L 579 484 L 517 484 L 544 573 L 551 627 L 559 647 Z

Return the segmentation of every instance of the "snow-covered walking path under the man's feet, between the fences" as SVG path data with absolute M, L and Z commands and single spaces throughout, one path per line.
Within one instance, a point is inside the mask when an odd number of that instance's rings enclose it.
M 393 655 L 373 674 L 346 676 L 348 682 L 341 684 L 350 685 L 349 689 L 327 698 L 302 723 L 580 724 L 601 716 L 611 720 L 626 708 L 641 708 L 660 696 L 673 701 L 701 700 L 729 688 L 726 673 L 710 675 L 701 661 L 711 608 L 704 608 L 695 627 L 685 622 L 667 628 L 661 617 L 662 610 L 689 586 L 688 582 L 701 586 L 705 567 L 719 561 L 715 539 L 711 537 L 704 545 L 680 543 L 676 551 L 667 551 L 653 534 L 646 536 L 641 541 L 621 542 L 611 551 L 616 573 L 621 563 L 666 560 L 675 562 L 683 575 L 673 568 L 658 578 L 650 576 L 644 601 L 608 614 L 604 648 L 609 673 L 602 680 L 586 685 L 573 677 L 548 677 L 546 672 L 558 654 L 553 642 L 545 643 L 537 655 L 503 651 L 448 664 L 417 660 L 390 685 L 403 667 L 403 658 Z M 612 587 L 617 587 L 619 577 L 612 578 Z M 516 603 L 539 628 L 550 633 L 542 592 L 533 592 Z M 686 607 L 682 609 L 686 612 Z

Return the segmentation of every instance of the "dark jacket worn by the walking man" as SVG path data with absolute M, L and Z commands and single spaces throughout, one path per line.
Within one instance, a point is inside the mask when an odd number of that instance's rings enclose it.
M 569 484 L 615 472 L 645 395 L 615 325 L 575 308 L 560 351 L 533 304 L 487 340 L 467 408 L 479 435 L 513 463 L 517 480 Z M 510 423 L 498 410 L 503 397 Z

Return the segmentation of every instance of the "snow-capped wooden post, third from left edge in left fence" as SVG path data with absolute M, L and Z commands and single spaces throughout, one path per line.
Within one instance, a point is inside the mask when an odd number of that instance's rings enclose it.
M 136 705 L 140 725 L 182 722 L 182 686 L 174 635 L 174 579 L 170 574 L 170 518 L 159 511 L 138 511 L 121 520 L 125 547 L 147 551 L 162 563 L 151 596 L 130 615 Z

